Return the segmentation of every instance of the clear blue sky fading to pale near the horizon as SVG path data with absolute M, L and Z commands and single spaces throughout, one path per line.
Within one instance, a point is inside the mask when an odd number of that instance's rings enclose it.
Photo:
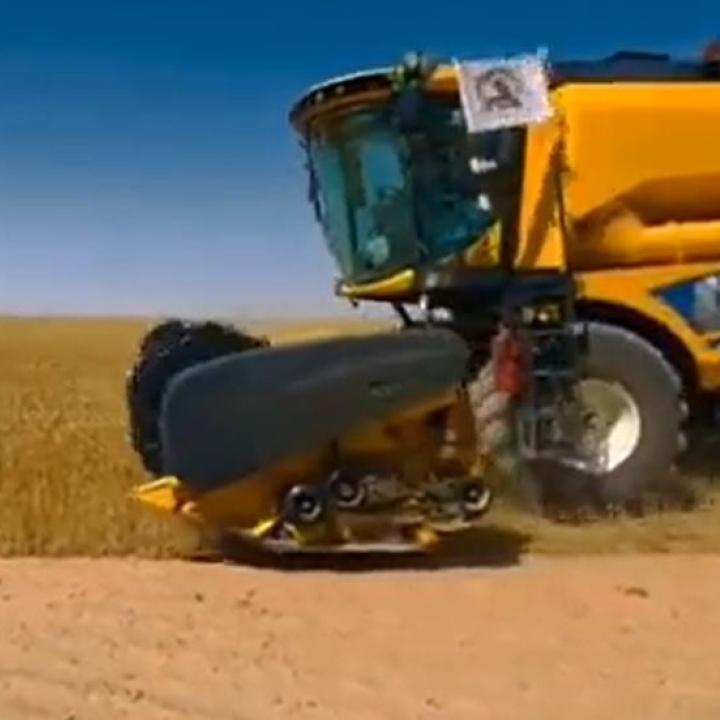
M 0 0 L 0 313 L 337 313 L 287 123 L 308 85 L 716 33 L 705 0 Z

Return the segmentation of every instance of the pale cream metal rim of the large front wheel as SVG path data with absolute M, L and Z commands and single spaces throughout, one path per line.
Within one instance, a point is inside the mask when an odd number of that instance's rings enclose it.
M 577 386 L 583 413 L 582 455 L 587 470 L 606 474 L 635 452 L 642 430 L 640 410 L 619 383 L 588 378 Z

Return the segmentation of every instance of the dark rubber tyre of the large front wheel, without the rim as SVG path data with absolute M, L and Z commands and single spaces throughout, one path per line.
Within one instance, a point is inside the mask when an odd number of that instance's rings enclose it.
M 602 475 L 551 461 L 529 464 L 546 511 L 581 508 L 642 513 L 650 498 L 674 491 L 673 466 L 683 449 L 682 386 L 661 353 L 623 328 L 592 322 L 582 376 L 617 382 L 635 401 L 640 437 L 631 455 Z

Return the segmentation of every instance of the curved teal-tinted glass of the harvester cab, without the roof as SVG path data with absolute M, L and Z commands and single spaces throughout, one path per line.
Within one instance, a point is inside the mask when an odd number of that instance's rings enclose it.
M 462 113 L 422 109 L 401 132 L 390 107 L 335 119 L 308 144 L 313 199 L 343 279 L 372 281 L 474 243 L 494 222 L 478 200 Z

